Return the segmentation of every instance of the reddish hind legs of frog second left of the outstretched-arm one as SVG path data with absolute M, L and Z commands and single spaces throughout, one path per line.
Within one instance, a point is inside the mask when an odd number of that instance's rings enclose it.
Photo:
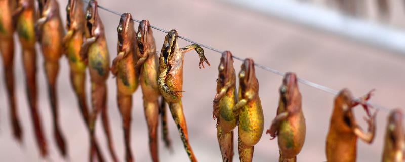
M 131 109 L 132 109 L 132 96 L 123 95 L 118 92 L 118 107 L 123 120 L 124 131 L 124 144 L 125 144 L 125 159 L 126 161 L 133 161 L 131 151 Z

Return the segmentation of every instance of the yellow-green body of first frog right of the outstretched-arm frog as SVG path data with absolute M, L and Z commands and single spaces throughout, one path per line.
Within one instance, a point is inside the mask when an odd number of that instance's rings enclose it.
M 237 124 L 237 113 L 233 112 L 236 103 L 235 94 L 236 88 L 233 86 L 219 100 L 219 125 L 224 132 L 232 131 Z

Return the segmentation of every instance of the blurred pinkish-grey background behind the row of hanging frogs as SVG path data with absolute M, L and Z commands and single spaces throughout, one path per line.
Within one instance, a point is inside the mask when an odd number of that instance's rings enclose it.
M 356 1 L 357 10 L 339 8 L 338 1 L 130 1 L 100 0 L 99 5 L 119 12 L 130 12 L 136 19 L 148 19 L 152 25 L 170 30 L 179 35 L 221 50 L 230 50 L 239 57 L 252 57 L 256 63 L 280 71 L 292 71 L 298 77 L 311 80 L 336 90 L 349 88 L 355 96 L 366 94 L 375 88 L 371 102 L 386 108 L 405 107 L 405 41 L 403 1 L 387 0 L 389 15 L 381 16 L 376 1 Z M 59 1 L 62 19 L 65 20 L 66 0 Z M 353 4 L 350 4 L 352 6 Z M 116 27 L 119 16 L 99 10 L 105 30 L 111 60 L 116 56 Z M 354 16 L 353 16 L 354 15 Z M 65 21 L 64 21 L 65 22 Z M 136 23 L 137 24 L 137 23 Z M 154 30 L 158 50 L 164 33 Z M 180 46 L 190 43 L 179 39 Z M 39 46 L 38 46 L 39 47 Z M 43 127 L 50 148 L 52 161 L 64 160 L 56 150 L 52 138 L 50 107 L 46 81 L 42 67 L 43 57 L 38 51 L 39 108 Z M 189 140 L 199 161 L 220 161 L 221 154 L 216 138 L 216 121 L 212 118 L 212 100 L 215 95 L 217 66 L 220 55 L 205 49 L 211 67 L 198 69 L 195 52 L 185 56 L 183 106 L 187 120 Z M 60 123 L 66 135 L 70 161 L 88 160 L 89 140 L 84 122 L 79 115 L 76 98 L 69 82 L 67 59 L 60 60 L 58 97 Z M 241 62 L 235 60 L 236 71 Z M 18 111 L 22 121 L 24 142 L 17 143 L 11 136 L 5 84 L 0 82 L 0 159 L 2 161 L 41 161 L 34 141 L 20 46 L 15 54 L 15 80 Z M 265 117 L 265 130 L 275 117 L 278 105 L 278 87 L 282 77 L 256 68 L 260 83 L 259 95 Z M 89 77 L 88 77 L 89 78 Z M 87 92 L 90 91 L 87 84 Z M 333 108 L 334 96 L 300 84 L 303 96 L 303 111 L 306 117 L 307 134 L 298 161 L 325 161 L 325 137 Z M 124 161 L 124 140 L 121 118 L 116 102 L 115 79 L 108 80 L 108 111 L 114 147 L 120 161 Z M 90 98 L 90 97 L 88 97 Z M 142 92 L 138 88 L 133 95 L 133 121 L 131 139 L 133 155 L 137 161 L 151 161 L 148 149 L 147 126 L 143 113 Z M 89 102 L 90 104 L 90 102 Z M 362 108 L 356 108 L 359 124 L 367 129 L 362 120 Z M 358 141 L 358 161 L 379 161 L 383 149 L 383 137 L 387 111 L 381 110 L 377 117 L 377 135 L 373 144 Z M 159 141 L 161 161 L 188 161 L 183 144 L 171 116 L 168 116 L 171 153 Z M 160 130 L 160 127 L 159 127 Z M 237 128 L 235 129 L 237 130 Z M 97 123 L 97 135 L 102 152 L 111 160 L 101 129 Z M 237 132 L 237 131 L 236 131 Z M 159 139 L 161 137 L 159 131 Z M 263 133 L 255 146 L 253 161 L 276 161 L 277 140 L 269 140 Z M 237 139 L 237 133 L 235 133 Z M 234 161 L 239 161 L 234 141 Z

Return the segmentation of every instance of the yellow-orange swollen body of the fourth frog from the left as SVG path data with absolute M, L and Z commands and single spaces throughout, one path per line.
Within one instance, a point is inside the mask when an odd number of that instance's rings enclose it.
M 83 33 L 77 31 L 72 38 L 66 41 L 66 56 L 69 60 L 70 70 L 73 72 L 84 72 L 86 64 L 80 57 L 80 49 L 82 49 Z

